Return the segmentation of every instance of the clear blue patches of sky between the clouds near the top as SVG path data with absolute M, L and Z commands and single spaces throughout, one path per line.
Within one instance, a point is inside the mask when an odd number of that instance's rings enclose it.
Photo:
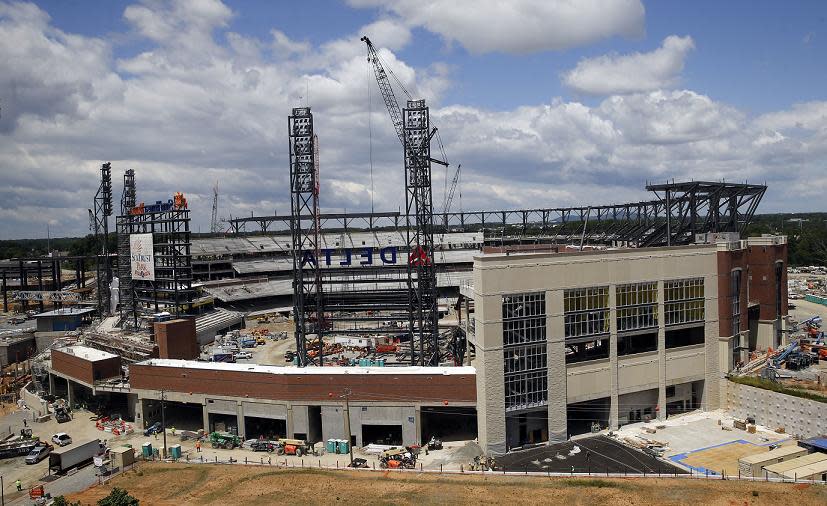
M 112 32 L 120 39 L 116 56 L 145 48 L 140 40 L 120 35 L 129 30 L 122 14 L 132 1 L 37 3 L 65 31 L 89 36 Z M 232 31 L 264 38 L 279 27 L 292 39 L 314 45 L 353 33 L 382 14 L 381 9 L 353 8 L 336 0 L 226 3 L 236 12 L 229 24 Z M 417 29 L 414 43 L 398 55 L 418 66 L 434 61 L 455 66 L 461 82 L 446 93 L 444 103 L 508 110 L 555 96 L 583 98 L 568 92 L 558 77 L 581 58 L 650 51 L 671 34 L 690 35 L 696 49 L 686 62 L 682 80 L 690 89 L 754 114 L 824 98 L 827 2 L 664 0 L 645 2 L 645 7 L 646 33 L 639 38 L 611 37 L 588 47 L 536 54 L 473 55 L 458 44 L 446 44 L 439 35 Z

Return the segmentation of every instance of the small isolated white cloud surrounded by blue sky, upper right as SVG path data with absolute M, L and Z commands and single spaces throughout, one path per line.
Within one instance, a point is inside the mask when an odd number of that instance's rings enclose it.
M 608 55 L 581 60 L 563 74 L 563 84 L 588 95 L 629 94 L 674 86 L 695 43 L 671 35 L 650 53 Z

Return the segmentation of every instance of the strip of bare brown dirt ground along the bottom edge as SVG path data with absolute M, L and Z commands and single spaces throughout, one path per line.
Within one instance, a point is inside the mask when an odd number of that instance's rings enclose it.
M 174 483 L 174 484 L 173 484 Z M 823 505 L 827 487 L 669 479 L 448 476 L 398 472 L 272 470 L 142 464 L 68 499 L 94 504 L 113 487 L 141 504 L 704 504 Z

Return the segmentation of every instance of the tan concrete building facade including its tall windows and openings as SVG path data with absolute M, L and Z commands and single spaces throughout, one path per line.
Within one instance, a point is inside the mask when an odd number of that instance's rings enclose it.
M 717 409 L 717 290 L 715 245 L 476 257 L 480 444 Z

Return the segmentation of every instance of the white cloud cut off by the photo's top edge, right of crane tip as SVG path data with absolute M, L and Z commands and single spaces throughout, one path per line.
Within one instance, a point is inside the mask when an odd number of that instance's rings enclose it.
M 639 0 L 350 0 L 382 7 L 472 53 L 531 53 L 643 34 Z M 377 39 L 378 40 L 378 39 Z

